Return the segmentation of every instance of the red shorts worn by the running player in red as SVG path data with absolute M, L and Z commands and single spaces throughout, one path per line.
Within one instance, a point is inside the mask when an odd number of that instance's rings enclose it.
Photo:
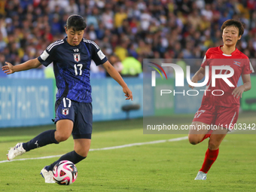
M 231 108 L 215 105 L 201 105 L 193 121 L 223 126 L 228 130 L 232 130 L 233 124 L 236 123 L 238 119 L 239 107 L 239 105 Z

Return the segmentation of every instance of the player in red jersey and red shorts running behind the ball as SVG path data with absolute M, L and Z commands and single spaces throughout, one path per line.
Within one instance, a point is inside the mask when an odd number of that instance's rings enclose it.
M 239 98 L 244 91 L 251 89 L 251 72 L 254 72 L 249 59 L 236 48 L 236 42 L 241 38 L 244 29 L 238 20 L 227 20 L 221 26 L 224 45 L 209 48 L 200 69 L 191 79 L 197 83 L 205 76 L 206 66 L 209 66 L 209 81 L 206 85 L 202 104 L 194 116 L 188 135 L 190 144 L 197 145 L 209 138 L 209 145 L 203 166 L 195 180 L 206 180 L 206 174 L 218 157 L 219 146 L 232 130 L 239 114 Z M 233 76 L 227 78 L 233 87 L 230 87 L 222 78 L 215 79 L 212 84 L 212 67 L 226 66 L 234 71 Z M 216 75 L 228 75 L 230 70 L 215 70 Z M 243 84 L 237 87 L 239 77 L 242 76 Z M 189 85 L 193 89 L 192 85 Z M 210 129 L 211 128 L 211 129 Z M 214 128 L 214 129 L 212 129 Z

